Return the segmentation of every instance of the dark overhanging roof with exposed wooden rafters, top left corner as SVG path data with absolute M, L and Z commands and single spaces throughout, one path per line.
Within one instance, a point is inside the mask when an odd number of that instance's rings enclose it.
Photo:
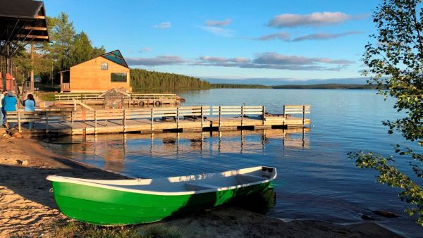
M 0 41 L 48 42 L 44 2 L 0 0 Z

